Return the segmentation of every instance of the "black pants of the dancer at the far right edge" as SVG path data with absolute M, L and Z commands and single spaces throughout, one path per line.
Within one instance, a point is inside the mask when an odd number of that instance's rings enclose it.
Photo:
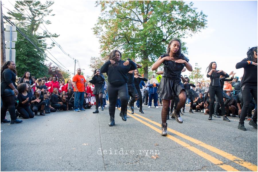
M 247 114 L 248 106 L 250 103 L 250 92 L 255 99 L 255 103 L 257 105 L 257 85 L 244 85 L 241 87 L 242 97 L 243 97 L 243 106 L 241 108 L 241 116 L 239 123 L 244 124 L 245 116 Z M 257 122 L 257 108 L 253 114 L 253 121 Z

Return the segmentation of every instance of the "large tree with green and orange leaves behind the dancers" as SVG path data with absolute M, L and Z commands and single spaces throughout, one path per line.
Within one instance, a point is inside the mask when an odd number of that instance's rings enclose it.
M 205 28 L 206 15 L 193 3 L 183 1 L 97 1 L 101 15 L 93 28 L 99 38 L 101 55 L 122 50 L 122 57 L 148 66 L 166 52 L 171 38 L 185 38 Z M 186 52 L 185 43 L 182 50 Z

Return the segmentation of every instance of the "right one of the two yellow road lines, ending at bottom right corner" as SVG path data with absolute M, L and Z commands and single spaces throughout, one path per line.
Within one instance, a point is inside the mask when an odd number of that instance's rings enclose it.
M 128 111 L 131 112 L 130 110 L 128 110 Z M 152 121 L 152 120 L 150 120 L 148 118 L 145 118 L 144 116 L 141 116 L 141 115 L 136 114 L 136 113 L 134 113 L 134 115 L 136 115 L 136 116 L 138 116 L 138 117 L 140 117 L 140 118 L 142 118 L 142 119 L 144 119 L 144 120 L 146 120 L 148 122 L 151 122 L 151 123 L 161 127 L 161 124 L 159 124 L 159 123 L 157 123 L 155 121 Z M 200 146 L 202 146 L 202 147 L 204 147 L 204 148 L 206 148 L 206 149 L 208 149 L 208 150 L 210 150 L 210 151 L 212 151 L 212 152 L 214 152 L 214 153 L 216 153 L 218 155 L 221 155 L 222 157 L 224 157 L 226 159 L 229 159 L 230 161 L 233 161 L 234 163 L 237 163 L 237 164 L 239 164 L 239 165 L 241 165 L 243 167 L 246 167 L 247 169 L 249 169 L 251 171 L 257 171 L 257 165 L 249 163 L 248 161 L 245 161 L 245 160 L 243 160 L 241 158 L 238 158 L 238 157 L 236 157 L 234 155 L 231 155 L 231 154 L 229 154 L 229 153 L 227 153 L 225 151 L 222 151 L 222 150 L 220 150 L 220 149 L 218 149 L 216 147 L 207 145 L 204 142 L 201 142 L 201 141 L 199 141 L 197 139 L 194 139 L 192 137 L 184 135 L 183 133 L 175 131 L 175 130 L 173 130 L 171 128 L 167 128 L 167 131 L 170 131 L 171 133 L 174 133 L 175 135 L 178 135 L 178 136 L 180 136 L 180 137 L 182 137 L 182 138 L 184 138 L 186 140 L 189 140 L 189 141 L 191 141 L 193 143 L 196 143 L 196 144 L 198 144 L 198 145 L 200 145 Z

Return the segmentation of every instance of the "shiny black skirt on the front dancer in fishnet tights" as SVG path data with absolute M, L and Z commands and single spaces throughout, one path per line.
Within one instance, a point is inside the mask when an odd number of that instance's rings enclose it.
M 170 80 L 162 77 L 158 87 L 158 96 L 165 100 L 171 100 L 174 96 L 178 97 L 180 92 L 185 90 L 181 79 Z

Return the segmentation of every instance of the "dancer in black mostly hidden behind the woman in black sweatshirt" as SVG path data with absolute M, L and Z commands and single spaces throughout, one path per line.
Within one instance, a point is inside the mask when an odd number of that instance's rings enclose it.
M 131 59 L 127 59 L 131 60 Z M 137 68 L 141 68 L 142 65 L 136 63 Z M 127 87 L 128 87 L 128 94 L 131 97 L 131 100 L 129 101 L 128 105 L 129 108 L 131 109 L 131 114 L 134 114 L 134 102 L 136 102 L 139 99 L 139 94 L 134 86 L 134 70 L 131 70 L 127 73 L 128 77 L 128 82 L 127 82 Z M 139 83 L 140 84 L 140 83 Z M 125 113 L 127 117 L 127 112 Z

